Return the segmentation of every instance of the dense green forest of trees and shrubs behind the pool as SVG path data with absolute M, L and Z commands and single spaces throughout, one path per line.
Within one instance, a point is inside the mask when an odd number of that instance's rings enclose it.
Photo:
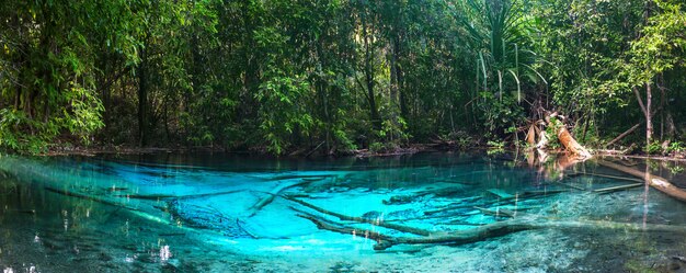
M 681 0 L 8 0 L 0 147 L 686 140 Z M 618 146 L 613 146 L 617 147 Z

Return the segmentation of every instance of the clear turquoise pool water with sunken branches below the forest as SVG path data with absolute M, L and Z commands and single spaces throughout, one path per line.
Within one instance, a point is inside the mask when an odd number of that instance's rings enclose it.
M 684 272 L 686 204 L 642 185 L 594 192 L 637 183 L 594 161 L 534 161 L 1 156 L 0 270 Z M 682 168 L 648 162 L 677 186 Z M 382 247 L 515 221 L 538 226 Z

